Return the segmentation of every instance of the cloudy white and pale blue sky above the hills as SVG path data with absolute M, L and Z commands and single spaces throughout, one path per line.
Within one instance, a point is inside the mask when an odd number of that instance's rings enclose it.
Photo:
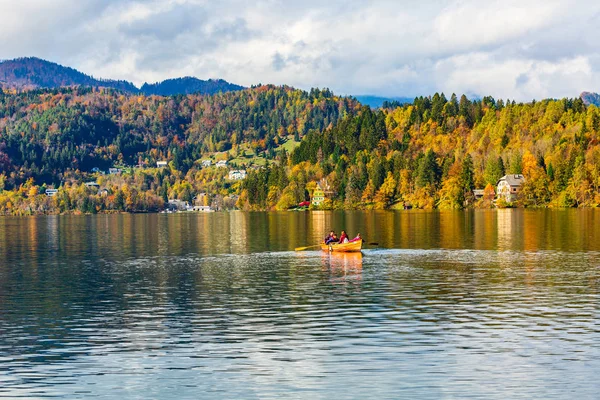
M 0 0 L 0 59 L 141 85 L 529 101 L 600 91 L 596 0 Z

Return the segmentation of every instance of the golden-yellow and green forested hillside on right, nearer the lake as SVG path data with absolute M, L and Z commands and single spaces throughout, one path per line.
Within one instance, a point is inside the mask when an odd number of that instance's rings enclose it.
M 525 184 L 516 204 L 499 206 L 595 207 L 599 129 L 598 108 L 581 99 L 517 104 L 436 94 L 394 109 L 363 108 L 306 135 L 287 169 L 251 174 L 240 203 L 286 208 L 321 181 L 331 208 L 490 207 L 496 182 L 511 173 Z M 476 188 L 486 193 L 477 202 Z

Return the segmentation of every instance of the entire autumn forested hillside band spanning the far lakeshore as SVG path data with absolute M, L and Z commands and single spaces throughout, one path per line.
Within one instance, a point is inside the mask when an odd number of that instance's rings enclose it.
M 526 181 L 516 203 L 499 206 L 597 206 L 599 130 L 600 111 L 581 99 L 435 94 L 374 111 L 328 90 L 275 86 L 214 96 L 3 93 L 0 212 L 147 211 L 198 195 L 287 209 L 317 182 L 329 197 L 323 208 L 490 207 L 505 173 Z M 207 157 L 264 167 L 232 182 L 227 169 L 203 167 Z M 155 168 L 161 160 L 167 168 Z M 93 172 L 115 166 L 123 174 Z M 86 180 L 103 196 L 86 191 Z M 61 188 L 57 197 L 41 195 L 49 186 Z

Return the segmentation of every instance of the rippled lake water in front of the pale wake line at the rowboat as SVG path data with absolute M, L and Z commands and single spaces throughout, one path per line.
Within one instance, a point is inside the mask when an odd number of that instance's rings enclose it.
M 598 256 L 23 262 L 0 270 L 0 397 L 594 398 Z

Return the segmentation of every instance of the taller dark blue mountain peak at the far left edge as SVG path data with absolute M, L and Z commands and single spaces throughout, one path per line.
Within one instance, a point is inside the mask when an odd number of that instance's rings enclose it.
M 0 85 L 13 89 L 98 86 L 132 93 L 138 91 L 131 82 L 96 79 L 76 69 L 35 57 L 16 58 L 0 62 Z

